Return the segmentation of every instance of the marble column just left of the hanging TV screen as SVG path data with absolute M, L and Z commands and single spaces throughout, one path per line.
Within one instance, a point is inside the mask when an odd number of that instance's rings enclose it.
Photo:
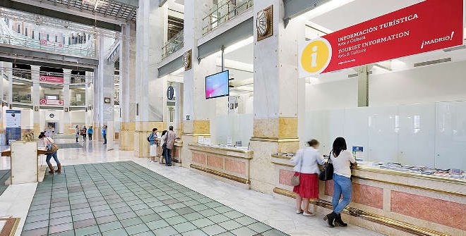
M 198 58 L 197 40 L 202 37 L 202 18 L 210 11 L 211 4 L 199 1 L 184 2 L 184 50 L 192 50 L 191 69 L 184 72 L 183 89 L 183 166 L 191 165 L 188 144 L 198 142 L 199 136 L 210 136 L 208 106 L 205 102 L 205 76 L 216 71 L 216 58 Z

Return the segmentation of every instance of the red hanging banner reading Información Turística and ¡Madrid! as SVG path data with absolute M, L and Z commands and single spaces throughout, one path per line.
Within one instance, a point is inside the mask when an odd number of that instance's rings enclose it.
M 462 44 L 463 0 L 426 0 L 300 46 L 299 77 Z

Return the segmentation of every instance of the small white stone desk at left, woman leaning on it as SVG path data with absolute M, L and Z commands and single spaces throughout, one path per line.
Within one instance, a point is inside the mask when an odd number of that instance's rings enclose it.
M 45 148 L 37 148 L 37 142 L 23 141 L 12 142 L 11 149 L 1 151 L 1 156 L 11 156 L 9 184 L 42 182 L 47 169 L 42 155 L 46 153 Z

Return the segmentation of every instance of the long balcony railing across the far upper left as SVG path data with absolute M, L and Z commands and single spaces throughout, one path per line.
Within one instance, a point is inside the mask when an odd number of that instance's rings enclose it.
M 12 37 L 11 35 L 0 35 L 0 44 L 12 46 L 23 46 L 28 49 L 39 49 L 54 51 L 56 53 L 72 54 L 78 56 L 94 57 L 96 50 L 88 49 L 85 44 L 66 45 L 61 42 L 50 42 L 45 39 L 30 39 L 28 37 Z

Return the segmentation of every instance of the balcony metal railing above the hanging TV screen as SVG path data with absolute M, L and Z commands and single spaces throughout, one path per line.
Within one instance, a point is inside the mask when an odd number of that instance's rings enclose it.
M 221 4 L 214 4 L 208 15 L 202 19 L 203 35 L 212 31 L 219 25 L 231 20 L 235 16 L 244 13 L 254 5 L 253 0 L 244 1 L 242 4 L 232 4 L 231 1 L 225 1 Z

